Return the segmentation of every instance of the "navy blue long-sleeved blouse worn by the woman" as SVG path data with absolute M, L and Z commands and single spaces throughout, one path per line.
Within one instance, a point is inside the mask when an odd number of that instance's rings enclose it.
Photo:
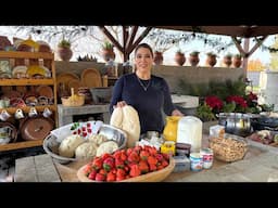
M 113 105 L 119 101 L 125 101 L 138 112 L 141 133 L 162 132 L 164 128 L 162 110 L 170 115 L 175 109 L 168 84 L 162 77 L 154 75 L 151 75 L 149 80 L 139 79 L 135 73 L 123 75 L 113 88 L 110 113 L 113 112 Z

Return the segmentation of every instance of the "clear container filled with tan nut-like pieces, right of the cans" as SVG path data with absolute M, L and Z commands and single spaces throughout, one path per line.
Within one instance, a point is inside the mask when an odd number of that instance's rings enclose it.
M 248 142 L 244 138 L 225 133 L 224 138 L 210 138 L 210 147 L 214 157 L 223 161 L 237 161 L 248 152 Z

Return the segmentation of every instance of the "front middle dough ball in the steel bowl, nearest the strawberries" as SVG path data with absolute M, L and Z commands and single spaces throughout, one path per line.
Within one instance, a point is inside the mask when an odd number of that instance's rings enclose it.
M 90 159 L 97 154 L 98 145 L 94 142 L 85 142 L 75 150 L 75 157 L 77 159 Z

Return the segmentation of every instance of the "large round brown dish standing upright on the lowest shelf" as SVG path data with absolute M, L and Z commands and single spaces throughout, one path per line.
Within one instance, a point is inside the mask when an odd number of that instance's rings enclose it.
M 54 121 L 43 116 L 27 118 L 21 127 L 23 140 L 43 140 L 54 128 Z

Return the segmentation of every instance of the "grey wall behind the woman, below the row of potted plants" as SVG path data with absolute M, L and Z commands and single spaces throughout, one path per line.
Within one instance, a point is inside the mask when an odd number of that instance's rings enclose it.
M 55 62 L 56 74 L 71 72 L 80 76 L 86 68 L 103 69 L 104 63 L 96 62 Z M 123 74 L 123 66 L 118 64 L 118 75 Z M 166 79 L 172 92 L 178 91 L 179 80 L 187 83 L 204 83 L 210 81 L 225 81 L 230 79 L 238 80 L 243 76 L 242 68 L 224 68 L 224 67 L 192 67 L 192 66 L 164 66 L 155 65 L 153 74 Z

